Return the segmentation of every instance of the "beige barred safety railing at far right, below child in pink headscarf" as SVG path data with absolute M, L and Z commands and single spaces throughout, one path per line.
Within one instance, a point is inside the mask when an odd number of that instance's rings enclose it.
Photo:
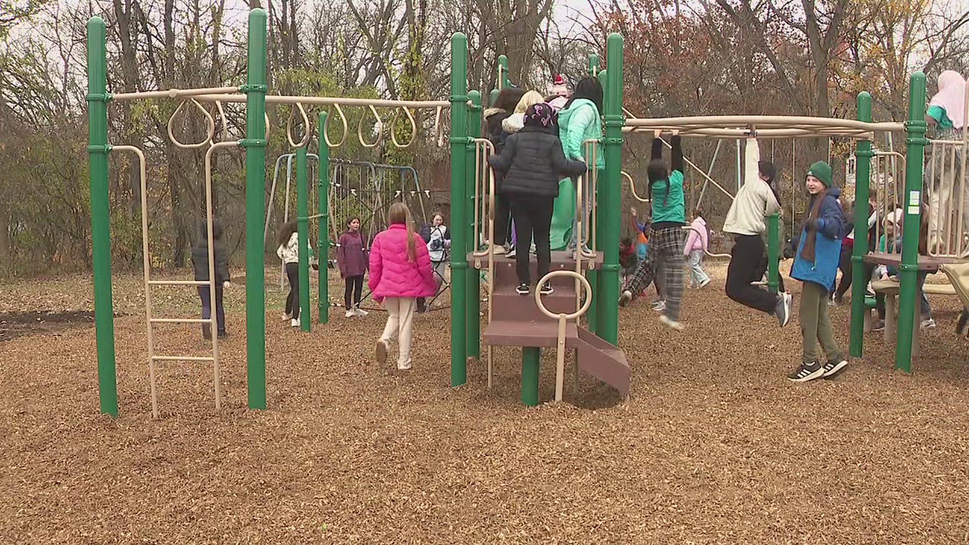
M 925 181 L 928 191 L 928 255 L 969 257 L 969 185 L 966 140 L 929 141 Z

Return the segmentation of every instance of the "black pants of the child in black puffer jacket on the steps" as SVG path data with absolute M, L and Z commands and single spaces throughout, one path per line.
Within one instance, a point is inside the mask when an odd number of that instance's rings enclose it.
M 535 253 L 539 259 L 539 278 L 545 276 L 551 263 L 551 249 L 548 232 L 551 230 L 551 212 L 555 204 L 553 197 L 536 197 L 532 195 L 512 195 L 512 217 L 515 219 L 516 246 L 520 251 L 516 253 L 516 273 L 518 283 L 531 285 L 531 274 L 528 270 L 528 248 L 535 240 Z

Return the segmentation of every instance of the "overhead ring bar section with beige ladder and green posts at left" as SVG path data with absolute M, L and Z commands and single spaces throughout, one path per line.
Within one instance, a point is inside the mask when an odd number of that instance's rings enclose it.
M 459 57 L 460 63 L 466 63 L 466 40 L 463 35 L 455 34 L 452 41 L 453 48 L 463 48 L 461 54 L 453 51 L 453 56 Z M 319 223 L 318 240 L 321 249 L 326 249 L 326 233 L 328 230 L 328 161 L 330 147 L 338 147 L 346 142 L 348 130 L 347 119 L 342 111 L 342 107 L 363 107 L 367 108 L 378 121 L 379 134 L 375 142 L 366 143 L 375 145 L 383 137 L 383 122 L 377 113 L 378 108 L 391 108 L 394 110 L 393 120 L 395 121 L 403 114 L 409 122 L 411 128 L 411 138 L 409 142 L 402 143 L 396 134 L 397 123 L 391 122 L 391 143 L 397 147 L 406 147 L 413 144 L 417 139 L 417 124 L 414 119 L 413 109 L 435 110 L 434 138 L 440 141 L 443 136 L 444 128 L 441 124 L 442 112 L 445 107 L 451 107 L 453 118 L 463 121 L 462 116 L 466 112 L 467 97 L 462 100 L 453 98 L 452 101 L 393 101 L 393 100 L 371 100 L 356 98 L 333 98 L 333 97 L 300 97 L 300 96 L 274 96 L 267 95 L 266 91 L 266 12 L 262 9 L 254 9 L 249 13 L 248 31 L 248 66 L 246 83 L 240 86 L 198 88 L 198 89 L 169 89 L 145 92 L 130 92 L 110 94 L 108 92 L 107 80 L 107 45 L 105 21 L 101 17 L 91 17 L 87 23 L 87 69 L 88 69 L 88 92 L 87 105 L 89 117 L 89 145 L 88 153 L 90 158 L 90 191 L 91 191 L 91 233 L 92 233 L 92 256 L 94 269 L 94 300 L 95 300 L 95 326 L 98 347 L 98 383 L 101 401 L 101 411 L 117 416 L 117 380 L 115 370 L 114 354 L 114 327 L 113 327 L 113 307 L 111 303 L 111 265 L 110 265 L 110 230 L 109 230 L 109 184 L 108 184 L 108 156 L 112 150 L 133 151 L 141 160 L 142 186 L 145 183 L 145 173 L 143 168 L 143 151 L 134 146 L 114 146 L 108 142 L 108 103 L 111 100 L 136 100 L 136 99 L 181 99 L 178 108 L 172 113 L 172 118 L 182 112 L 186 106 L 191 106 L 189 110 L 201 112 L 206 124 L 205 138 L 202 142 L 194 144 L 182 144 L 175 140 L 172 132 L 172 119 L 169 122 L 169 137 L 178 147 L 205 148 L 205 177 L 206 177 L 206 221 L 208 223 L 209 240 L 211 240 L 211 176 L 210 159 L 214 151 L 232 146 L 242 146 L 246 150 L 246 361 L 247 361 L 247 390 L 248 406 L 250 408 L 266 408 L 266 292 L 265 292 L 265 229 L 264 220 L 266 218 L 266 205 L 263 195 L 266 193 L 266 144 L 267 115 L 266 104 L 286 104 L 291 105 L 290 120 L 287 123 L 287 139 L 289 144 L 296 148 L 297 158 L 297 219 L 298 237 L 300 247 L 304 247 L 308 242 L 308 191 L 306 181 L 306 158 L 307 149 L 312 130 L 309 122 L 309 115 L 306 106 L 328 107 L 336 112 L 342 125 L 342 137 L 339 142 L 334 143 L 328 135 L 328 114 L 327 112 L 318 113 L 319 128 L 319 169 L 318 169 L 318 194 L 319 194 L 319 213 L 321 221 Z M 211 104 L 220 116 L 223 117 L 222 126 L 226 127 L 223 105 L 228 103 L 244 103 L 246 105 L 246 133 L 245 138 L 237 141 L 222 140 L 215 142 L 215 123 L 212 115 L 207 112 L 203 104 Z M 402 113 L 401 113 L 402 112 Z M 303 135 L 300 139 L 293 137 L 293 125 L 296 115 L 303 125 Z M 459 122 L 460 122 L 459 121 Z M 362 133 L 359 132 L 359 135 Z M 223 131 L 220 135 L 226 139 L 228 135 Z M 457 151 L 453 144 L 453 152 Z M 145 192 L 142 191 L 142 195 Z M 142 208 L 146 206 L 142 197 Z M 464 215 L 460 207 L 454 212 L 454 224 L 461 225 Z M 142 217 L 142 227 L 144 218 Z M 260 233 L 260 228 L 264 233 Z M 145 235 L 146 236 L 146 235 Z M 212 255 L 212 244 L 209 244 L 209 289 L 214 293 L 214 259 Z M 145 242 L 145 303 L 146 303 L 146 326 L 148 328 L 148 364 L 149 371 L 154 374 L 153 362 L 159 360 L 179 360 L 179 361 L 211 361 L 213 363 L 213 373 L 215 375 L 216 406 L 221 404 L 221 391 L 218 376 L 218 341 L 217 336 L 212 339 L 212 357 L 183 357 L 183 356 L 161 356 L 153 353 L 151 327 L 156 323 L 200 323 L 198 319 L 165 319 L 154 318 L 152 316 L 153 307 L 150 301 L 149 287 L 160 283 L 178 285 L 198 285 L 197 282 L 177 281 L 159 282 L 150 280 L 148 277 L 147 247 Z M 322 252 L 321 252 L 322 253 Z M 463 260 L 463 253 L 454 252 L 458 255 L 458 262 Z M 466 264 L 465 264 L 466 267 Z M 463 270 L 459 266 L 457 269 Z M 326 267 L 320 268 L 321 273 L 327 271 Z M 462 278 L 463 279 L 463 278 Z M 299 260 L 299 283 L 300 283 L 300 307 L 304 316 L 309 316 L 309 263 L 304 253 L 300 254 Z M 477 300 L 477 298 L 475 298 Z M 327 302 L 327 282 L 319 283 L 319 300 Z M 461 308 L 463 310 L 463 308 Z M 320 305 L 320 321 L 325 323 L 328 320 L 328 305 Z M 206 320 L 208 322 L 208 320 Z M 303 329 L 307 330 L 310 320 L 302 320 Z M 209 322 L 210 323 L 210 322 Z M 154 380 L 152 380 L 154 384 Z M 152 395 L 155 399 L 154 393 Z M 157 416 L 157 405 L 153 406 L 153 413 Z

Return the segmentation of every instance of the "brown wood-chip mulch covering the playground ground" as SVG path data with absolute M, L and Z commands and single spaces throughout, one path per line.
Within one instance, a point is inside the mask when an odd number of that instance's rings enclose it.
M 93 328 L 7 340 L 0 543 L 965 543 L 969 341 L 953 335 L 955 299 L 932 299 L 939 327 L 911 374 L 869 334 L 835 380 L 793 384 L 797 322 L 781 330 L 731 302 L 724 267 L 708 268 L 713 283 L 686 292 L 684 332 L 644 301 L 621 310 L 628 402 L 583 376 L 578 398 L 525 407 L 504 348 L 493 389 L 484 364 L 451 388 L 447 311 L 417 319 L 412 371 L 378 369 L 386 314 L 333 309 L 303 334 L 271 288 L 269 410 L 248 410 L 241 283 L 219 345 L 221 412 L 210 365 L 169 363 L 151 418 L 138 312 L 115 319 L 118 419 L 98 414 Z M 47 307 L 82 307 L 85 282 Z M 0 300 L 30 300 L 6 288 Z M 832 309 L 845 348 L 848 313 Z M 160 330 L 160 353 L 206 354 L 196 326 Z M 548 401 L 553 351 L 543 358 Z

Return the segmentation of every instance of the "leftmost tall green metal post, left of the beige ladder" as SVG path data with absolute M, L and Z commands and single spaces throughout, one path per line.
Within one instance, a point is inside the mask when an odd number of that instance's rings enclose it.
M 108 57 L 105 20 L 87 21 L 87 155 L 91 178 L 91 258 L 94 269 L 94 327 L 98 346 L 101 412 L 117 417 L 114 366 L 114 306 L 111 302 L 111 232 L 108 196 Z

